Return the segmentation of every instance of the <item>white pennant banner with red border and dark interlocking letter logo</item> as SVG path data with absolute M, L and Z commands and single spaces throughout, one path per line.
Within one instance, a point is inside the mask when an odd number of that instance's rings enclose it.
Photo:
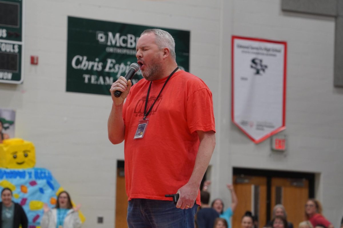
M 232 121 L 254 143 L 286 128 L 287 43 L 232 37 Z

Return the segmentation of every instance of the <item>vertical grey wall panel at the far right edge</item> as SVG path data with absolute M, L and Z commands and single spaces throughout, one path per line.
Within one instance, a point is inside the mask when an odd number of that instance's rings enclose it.
M 334 80 L 336 87 L 343 87 L 343 16 L 336 18 Z

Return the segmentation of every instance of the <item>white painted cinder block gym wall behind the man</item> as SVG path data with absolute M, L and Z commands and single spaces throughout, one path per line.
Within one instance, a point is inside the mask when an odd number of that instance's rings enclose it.
M 343 90 L 333 87 L 333 18 L 284 13 L 281 0 L 25 1 L 24 83 L 0 84 L 0 107 L 16 110 L 16 137 L 35 144 L 36 167 L 49 169 L 82 203 L 85 228 L 114 227 L 123 145 L 107 139 L 109 96 L 65 92 L 67 16 L 190 30 L 190 71 L 213 92 L 212 197 L 229 201 L 232 167 L 314 172 L 324 215 L 338 226 Z M 269 140 L 253 144 L 230 122 L 232 35 L 287 41 L 286 157 L 271 154 Z M 29 65 L 30 55 L 39 56 L 38 66 Z

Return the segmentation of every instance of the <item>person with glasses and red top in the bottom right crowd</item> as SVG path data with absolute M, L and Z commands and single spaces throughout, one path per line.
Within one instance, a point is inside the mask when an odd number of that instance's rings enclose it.
M 333 225 L 322 215 L 322 206 L 316 199 L 309 199 L 305 204 L 305 215 L 313 227 L 323 225 L 326 228 L 333 228 Z

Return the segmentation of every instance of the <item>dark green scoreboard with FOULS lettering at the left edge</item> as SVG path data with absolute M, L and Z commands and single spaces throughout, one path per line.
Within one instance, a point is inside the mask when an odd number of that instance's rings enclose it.
M 0 82 L 23 82 L 23 0 L 0 0 Z

